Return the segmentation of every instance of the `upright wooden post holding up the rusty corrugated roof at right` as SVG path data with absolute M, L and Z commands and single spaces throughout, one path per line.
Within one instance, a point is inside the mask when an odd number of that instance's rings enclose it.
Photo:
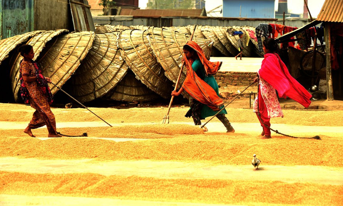
M 327 100 L 333 100 L 333 86 L 331 74 L 331 31 L 330 22 L 325 22 L 325 53 L 326 53 L 326 82 L 327 82 Z

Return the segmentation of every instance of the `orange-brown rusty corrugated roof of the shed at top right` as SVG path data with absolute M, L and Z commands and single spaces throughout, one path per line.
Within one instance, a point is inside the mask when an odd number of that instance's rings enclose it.
M 342 0 L 326 0 L 323 4 L 320 13 L 317 16 L 317 21 L 326 22 L 343 22 L 343 1 Z

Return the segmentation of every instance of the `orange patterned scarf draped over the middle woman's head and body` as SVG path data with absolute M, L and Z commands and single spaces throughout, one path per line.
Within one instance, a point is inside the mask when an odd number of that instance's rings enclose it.
M 193 41 L 189 41 L 187 45 L 197 52 L 198 57 L 204 66 L 206 75 L 215 75 L 220 69 L 222 62 L 211 62 L 207 60 L 201 47 Z M 194 99 L 208 105 L 212 110 L 219 110 L 219 107 L 224 104 L 223 100 L 216 94 L 214 89 L 209 84 L 198 77 L 196 72 L 194 72 L 192 68 L 193 61 L 188 60 L 185 54 L 183 55 L 185 66 L 187 68 L 187 76 L 182 84 L 182 88 L 184 88 L 184 90 L 186 90 L 186 92 Z

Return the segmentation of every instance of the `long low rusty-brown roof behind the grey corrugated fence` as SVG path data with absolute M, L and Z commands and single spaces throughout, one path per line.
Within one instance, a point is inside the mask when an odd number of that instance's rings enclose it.
M 118 15 L 125 16 L 206 16 L 204 9 L 129 9 L 121 8 Z

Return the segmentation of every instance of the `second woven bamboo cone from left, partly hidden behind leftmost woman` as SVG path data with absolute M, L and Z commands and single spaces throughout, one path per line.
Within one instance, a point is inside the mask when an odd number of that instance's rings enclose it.
M 46 31 L 43 33 L 38 33 L 35 36 L 33 36 L 26 44 L 29 44 L 33 47 L 33 51 L 35 53 L 35 56 L 33 60 L 35 61 L 44 47 L 47 45 L 49 41 L 51 41 L 54 37 L 63 34 L 63 33 L 68 33 L 69 31 L 66 29 L 60 29 L 60 30 L 51 30 L 51 31 Z M 19 79 L 19 68 L 20 68 L 20 61 L 23 59 L 23 57 L 20 55 L 19 52 L 17 52 L 16 57 L 14 61 L 11 60 L 10 65 L 11 67 L 11 72 L 10 72 L 10 78 L 12 80 L 12 91 L 13 91 L 13 96 L 14 100 L 17 101 L 17 93 L 20 89 L 20 79 Z

